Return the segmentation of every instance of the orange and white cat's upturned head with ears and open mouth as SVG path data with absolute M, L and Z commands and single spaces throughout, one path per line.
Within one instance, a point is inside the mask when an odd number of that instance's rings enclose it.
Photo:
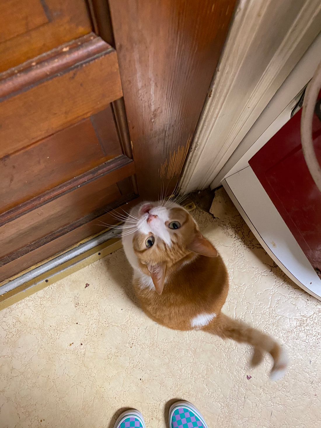
M 151 276 L 158 294 L 166 271 L 195 258 L 216 257 L 217 250 L 199 232 L 193 217 L 175 202 L 143 202 L 134 207 L 123 229 L 126 255 L 134 268 Z M 131 245 L 132 256 L 128 246 Z M 126 249 L 127 247 L 127 249 Z

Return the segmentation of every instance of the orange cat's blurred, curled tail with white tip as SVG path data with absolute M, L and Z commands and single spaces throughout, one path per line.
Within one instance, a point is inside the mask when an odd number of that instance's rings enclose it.
M 216 334 L 223 339 L 233 339 L 236 342 L 249 343 L 254 348 L 251 364 L 256 366 L 262 360 L 263 352 L 268 352 L 273 358 L 274 364 L 270 371 L 271 380 L 281 379 L 288 366 L 288 357 L 282 346 L 280 346 L 271 336 L 262 333 L 255 328 L 244 324 L 241 321 L 234 321 L 232 318 L 220 313 L 217 322 L 204 328 L 205 331 Z

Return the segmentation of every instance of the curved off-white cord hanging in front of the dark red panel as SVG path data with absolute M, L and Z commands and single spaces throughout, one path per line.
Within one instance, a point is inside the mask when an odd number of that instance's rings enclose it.
M 321 167 L 316 158 L 312 141 L 312 119 L 315 103 L 321 88 L 321 62 L 306 87 L 301 116 L 301 144 L 306 165 L 321 192 Z

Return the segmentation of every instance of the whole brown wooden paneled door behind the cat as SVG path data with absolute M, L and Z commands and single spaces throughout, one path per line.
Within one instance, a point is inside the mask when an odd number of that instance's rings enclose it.
M 234 5 L 1 2 L 0 282 L 172 193 Z

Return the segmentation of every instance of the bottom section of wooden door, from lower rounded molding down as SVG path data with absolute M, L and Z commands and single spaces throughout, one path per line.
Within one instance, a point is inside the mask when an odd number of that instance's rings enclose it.
M 1 214 L 0 266 L 133 199 L 131 188 L 122 193 L 124 179 L 134 172 L 134 162 L 121 155 Z M 97 221 L 95 232 L 99 230 Z M 59 251 L 74 242 L 63 244 Z

